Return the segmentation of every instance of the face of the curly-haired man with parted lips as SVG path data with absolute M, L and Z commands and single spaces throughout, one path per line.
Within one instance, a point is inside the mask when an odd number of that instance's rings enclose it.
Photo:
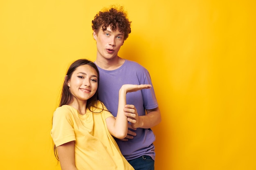
M 118 28 L 115 31 L 110 26 L 106 31 L 99 29 L 98 33 L 93 32 L 93 37 L 97 43 L 97 58 L 110 60 L 118 57 L 117 53 L 124 44 L 124 33 L 118 31 Z

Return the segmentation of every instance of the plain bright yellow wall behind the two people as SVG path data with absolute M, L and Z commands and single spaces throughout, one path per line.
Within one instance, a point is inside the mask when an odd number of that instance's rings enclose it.
M 255 0 L 0 1 L 1 169 L 60 169 L 52 114 L 110 4 L 132 21 L 119 55 L 148 69 L 162 111 L 155 169 L 256 170 Z

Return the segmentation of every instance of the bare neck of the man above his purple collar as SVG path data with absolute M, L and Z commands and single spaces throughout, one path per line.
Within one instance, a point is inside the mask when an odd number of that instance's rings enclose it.
M 96 58 L 95 63 L 97 64 L 97 66 L 99 66 L 100 68 L 104 69 L 104 70 L 115 70 L 117 68 L 119 68 L 121 65 L 124 64 L 124 59 L 121 57 L 116 57 L 110 60 L 107 59 L 99 59 L 99 57 Z

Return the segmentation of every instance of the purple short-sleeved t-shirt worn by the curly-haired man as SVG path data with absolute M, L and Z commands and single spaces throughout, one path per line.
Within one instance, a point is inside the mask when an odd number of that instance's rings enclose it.
M 98 66 L 99 68 L 99 66 Z M 108 110 L 117 116 L 119 89 L 123 84 L 151 84 L 151 78 L 143 66 L 136 62 L 125 60 L 116 70 L 107 71 L 99 68 L 99 100 Z M 139 115 L 145 115 L 145 109 L 157 108 L 154 88 L 127 93 L 126 103 L 135 105 Z M 137 128 L 137 135 L 128 141 L 116 139 L 117 144 L 127 160 L 148 155 L 155 160 L 155 135 L 151 129 Z

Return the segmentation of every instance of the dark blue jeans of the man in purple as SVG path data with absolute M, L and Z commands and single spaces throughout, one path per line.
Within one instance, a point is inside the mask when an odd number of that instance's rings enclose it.
M 155 161 L 148 155 L 143 155 L 128 162 L 135 170 L 155 170 Z

